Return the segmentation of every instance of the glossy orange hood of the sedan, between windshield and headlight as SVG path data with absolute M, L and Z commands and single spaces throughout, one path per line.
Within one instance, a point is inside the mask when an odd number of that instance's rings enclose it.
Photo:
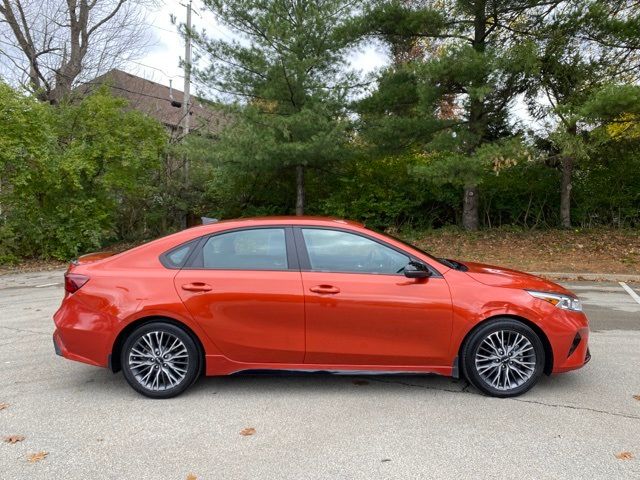
M 465 272 L 474 280 L 492 287 L 522 288 L 543 292 L 556 292 L 572 295 L 566 288 L 530 273 L 509 268 L 485 265 L 483 263 L 462 262 L 468 267 Z

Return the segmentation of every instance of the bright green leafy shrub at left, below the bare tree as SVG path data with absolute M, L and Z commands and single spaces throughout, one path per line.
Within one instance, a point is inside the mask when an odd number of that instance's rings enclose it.
M 142 208 L 164 128 L 105 91 L 53 107 L 0 85 L 0 261 L 69 259 L 116 238 Z

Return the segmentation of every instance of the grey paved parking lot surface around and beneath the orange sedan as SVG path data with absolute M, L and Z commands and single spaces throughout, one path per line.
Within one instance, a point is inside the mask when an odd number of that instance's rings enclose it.
M 593 358 L 519 398 L 437 376 L 300 374 L 207 378 L 153 401 L 54 354 L 61 279 L 0 277 L 0 436 L 25 437 L 0 444 L 0 478 L 640 478 L 640 303 L 617 283 L 566 284 Z

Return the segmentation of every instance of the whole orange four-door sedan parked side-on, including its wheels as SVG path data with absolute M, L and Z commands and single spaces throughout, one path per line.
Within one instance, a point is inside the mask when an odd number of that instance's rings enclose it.
M 434 258 L 343 220 L 271 217 L 81 257 L 56 352 L 153 398 L 203 373 L 436 373 L 510 397 L 589 361 L 576 296 L 526 273 Z

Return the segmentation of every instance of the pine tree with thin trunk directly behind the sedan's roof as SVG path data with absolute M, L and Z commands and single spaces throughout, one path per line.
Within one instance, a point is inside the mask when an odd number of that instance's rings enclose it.
M 233 38 L 195 35 L 199 79 L 235 101 L 215 155 L 241 168 L 278 171 L 305 205 L 305 171 L 339 161 L 348 141 L 347 0 L 205 0 Z M 193 32 L 187 32 L 193 34 Z M 242 167 L 244 166 L 244 167 Z

